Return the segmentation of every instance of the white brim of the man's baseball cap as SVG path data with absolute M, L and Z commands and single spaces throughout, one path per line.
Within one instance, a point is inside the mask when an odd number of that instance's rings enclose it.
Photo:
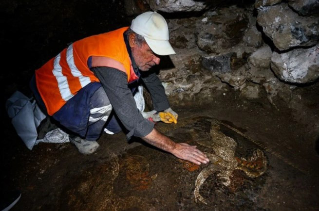
M 176 54 L 174 49 L 169 44 L 167 40 L 152 40 L 150 38 L 144 37 L 146 43 L 149 45 L 150 49 L 161 56 L 166 56 L 170 54 Z

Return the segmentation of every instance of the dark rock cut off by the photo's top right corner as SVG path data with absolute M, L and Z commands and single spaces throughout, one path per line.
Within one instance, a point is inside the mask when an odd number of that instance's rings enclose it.
M 288 0 L 288 4 L 302 16 L 319 13 L 319 0 Z

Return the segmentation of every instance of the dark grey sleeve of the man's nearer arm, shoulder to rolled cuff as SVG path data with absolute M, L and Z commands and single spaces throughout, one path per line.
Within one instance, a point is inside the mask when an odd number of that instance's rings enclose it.
M 143 118 L 136 107 L 134 97 L 128 88 L 127 75 L 111 67 L 94 67 L 91 69 L 100 80 L 106 95 L 112 104 L 115 114 L 131 136 L 144 137 L 154 128 L 154 124 Z

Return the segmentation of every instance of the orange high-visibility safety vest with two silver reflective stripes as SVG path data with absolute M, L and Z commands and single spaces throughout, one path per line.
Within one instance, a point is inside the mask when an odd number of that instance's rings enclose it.
M 76 41 L 36 70 L 38 92 L 49 115 L 55 114 L 87 84 L 99 82 L 88 67 L 90 56 L 107 57 L 103 65 L 126 72 L 128 82 L 136 79 L 123 37 L 127 29 Z

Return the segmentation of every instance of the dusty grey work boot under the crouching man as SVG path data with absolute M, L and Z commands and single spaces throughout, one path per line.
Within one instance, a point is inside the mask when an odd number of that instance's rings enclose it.
M 76 146 L 78 151 L 84 155 L 90 155 L 94 153 L 100 146 L 96 141 L 88 141 L 86 139 L 81 139 L 78 136 L 69 135 L 69 140 Z

